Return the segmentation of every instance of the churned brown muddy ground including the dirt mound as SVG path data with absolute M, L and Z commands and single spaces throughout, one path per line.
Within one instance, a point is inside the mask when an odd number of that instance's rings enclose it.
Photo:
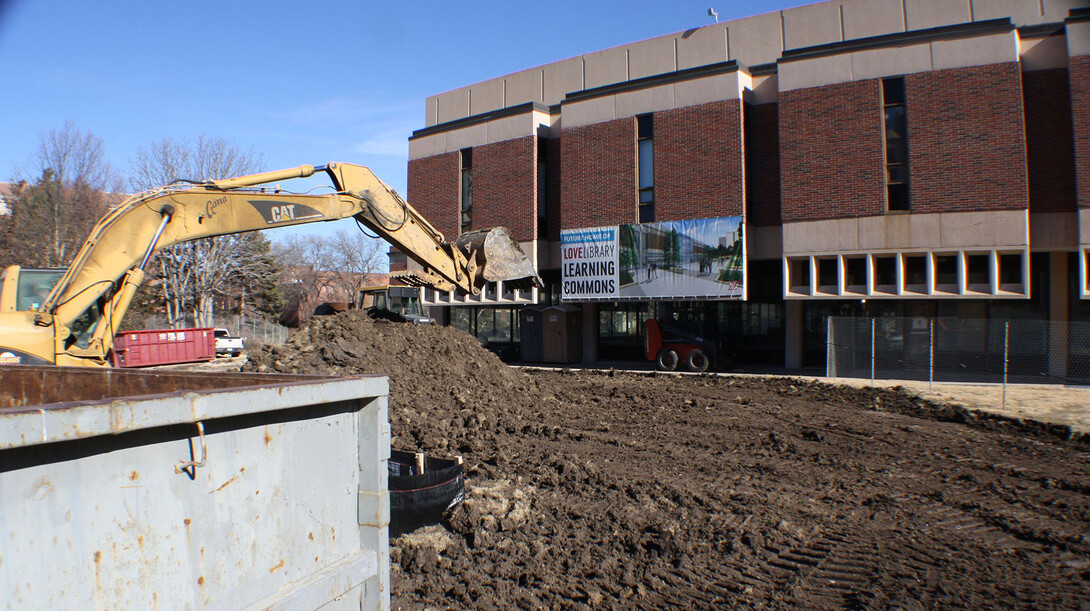
M 390 376 L 468 499 L 391 542 L 395 609 L 1090 609 L 1090 438 L 899 391 L 511 369 L 316 318 L 265 370 Z

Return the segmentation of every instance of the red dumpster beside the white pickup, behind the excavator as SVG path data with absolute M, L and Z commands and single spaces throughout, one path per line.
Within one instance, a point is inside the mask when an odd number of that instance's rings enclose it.
M 113 338 L 113 365 L 150 367 L 216 358 L 216 333 L 211 328 L 146 329 L 125 331 Z

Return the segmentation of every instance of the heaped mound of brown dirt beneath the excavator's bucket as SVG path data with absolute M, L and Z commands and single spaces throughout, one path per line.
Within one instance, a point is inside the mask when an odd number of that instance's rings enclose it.
M 497 431 L 521 426 L 525 375 L 451 327 L 372 320 L 351 310 L 312 318 L 281 345 L 250 355 L 247 369 L 375 374 L 390 379 L 393 445 L 492 460 Z

